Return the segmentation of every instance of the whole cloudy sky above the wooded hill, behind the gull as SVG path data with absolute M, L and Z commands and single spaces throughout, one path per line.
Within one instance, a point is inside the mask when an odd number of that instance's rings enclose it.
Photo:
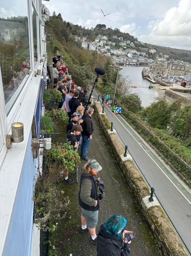
M 73 24 L 119 28 L 145 43 L 191 50 L 191 0 L 43 1 Z M 63 2 L 63 3 L 62 3 Z M 111 13 L 103 16 L 104 13 Z

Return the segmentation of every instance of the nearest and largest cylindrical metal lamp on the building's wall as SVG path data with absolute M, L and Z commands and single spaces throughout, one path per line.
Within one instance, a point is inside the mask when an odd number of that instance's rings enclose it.
M 10 149 L 13 143 L 19 143 L 24 140 L 24 125 L 21 122 L 11 124 L 11 134 L 6 135 L 6 147 Z

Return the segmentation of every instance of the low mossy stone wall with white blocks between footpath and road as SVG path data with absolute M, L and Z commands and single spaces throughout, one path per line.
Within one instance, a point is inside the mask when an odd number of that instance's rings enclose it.
M 105 138 L 114 157 L 118 161 L 121 172 L 123 172 L 128 186 L 138 201 L 141 212 L 149 224 L 163 255 L 188 256 L 180 239 L 176 235 L 168 216 L 165 214 L 156 198 L 154 197 L 154 202 L 149 201 L 150 188 L 147 186 L 141 174 L 133 164 L 131 156 L 127 155 L 127 157 L 123 157 L 125 148 L 118 139 L 115 130 L 113 130 L 113 132 L 108 130 L 108 124 L 110 122 L 107 117 L 101 113 L 102 107 L 100 103 L 95 102 L 94 108 Z

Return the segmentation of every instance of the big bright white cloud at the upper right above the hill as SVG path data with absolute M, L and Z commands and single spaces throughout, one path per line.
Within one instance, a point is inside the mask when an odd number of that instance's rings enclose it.
M 149 21 L 147 29 L 140 41 L 191 50 L 191 0 L 180 0 L 163 19 Z

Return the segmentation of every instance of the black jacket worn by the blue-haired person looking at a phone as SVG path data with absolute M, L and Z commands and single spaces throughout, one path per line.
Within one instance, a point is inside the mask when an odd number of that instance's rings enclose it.
M 130 256 L 130 244 L 125 243 L 119 236 L 113 236 L 100 227 L 97 235 L 97 256 Z

